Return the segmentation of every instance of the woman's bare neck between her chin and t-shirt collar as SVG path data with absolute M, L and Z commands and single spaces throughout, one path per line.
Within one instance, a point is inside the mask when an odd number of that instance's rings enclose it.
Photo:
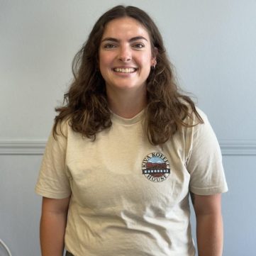
M 133 118 L 147 105 L 147 92 L 107 91 L 108 105 L 113 113 L 123 118 Z

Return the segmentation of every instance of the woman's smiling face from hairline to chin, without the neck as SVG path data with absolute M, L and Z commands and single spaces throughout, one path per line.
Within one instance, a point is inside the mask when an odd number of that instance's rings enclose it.
M 148 31 L 134 18 L 116 18 L 104 30 L 99 69 L 107 91 L 145 87 L 154 65 Z

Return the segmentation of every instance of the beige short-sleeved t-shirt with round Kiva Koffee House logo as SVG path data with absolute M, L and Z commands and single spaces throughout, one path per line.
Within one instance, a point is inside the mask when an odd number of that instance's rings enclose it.
M 83 138 L 61 124 L 50 135 L 36 192 L 70 196 L 65 248 L 75 256 L 194 256 L 189 191 L 227 191 L 221 150 L 204 123 L 180 128 L 164 145 L 152 145 L 144 111 Z M 185 120 L 198 123 L 196 117 Z

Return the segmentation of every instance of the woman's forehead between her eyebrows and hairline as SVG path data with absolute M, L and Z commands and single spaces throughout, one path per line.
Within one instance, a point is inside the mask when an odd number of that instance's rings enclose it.
M 143 36 L 150 40 L 146 28 L 135 18 L 123 17 L 115 18 L 106 24 L 102 38 L 132 38 Z

